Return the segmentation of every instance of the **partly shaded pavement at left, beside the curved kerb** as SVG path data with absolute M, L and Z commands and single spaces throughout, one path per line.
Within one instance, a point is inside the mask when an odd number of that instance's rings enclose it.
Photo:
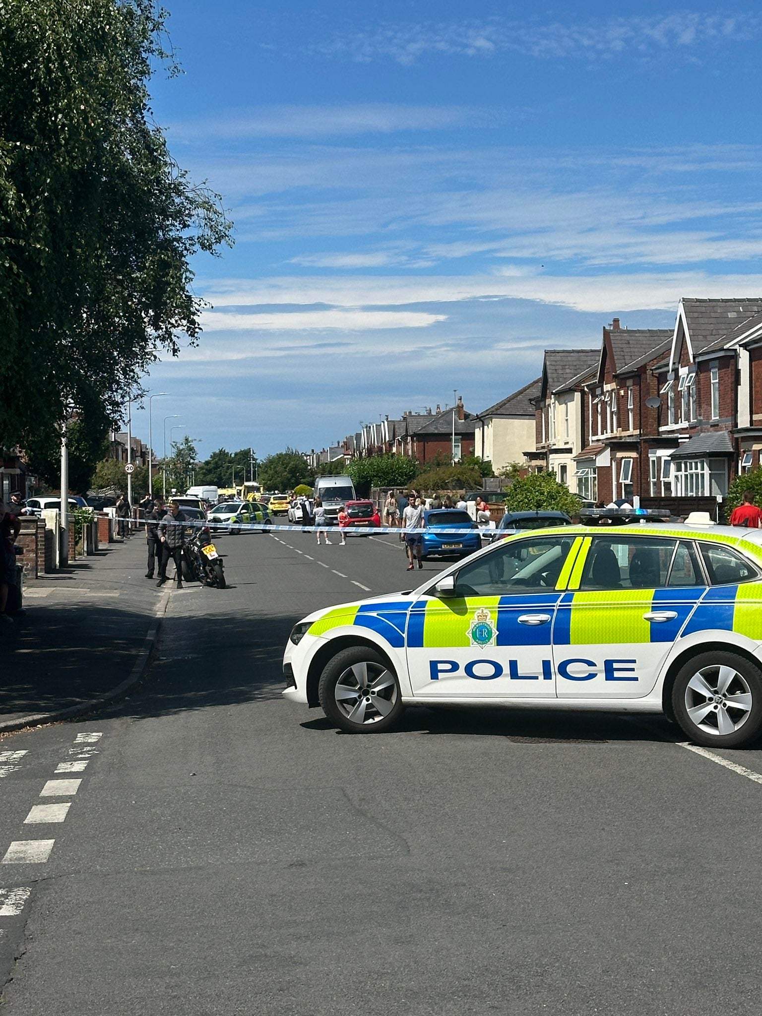
M 0 629 L 0 732 L 81 711 L 137 680 L 167 595 L 145 578 L 145 539 L 24 585 L 24 617 Z

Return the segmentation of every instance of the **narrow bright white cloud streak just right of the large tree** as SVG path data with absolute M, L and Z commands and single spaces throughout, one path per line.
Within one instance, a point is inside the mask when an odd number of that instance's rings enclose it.
M 258 301 L 260 303 L 273 301 Z M 281 302 L 281 301 L 278 301 Z M 300 301 L 300 303 L 303 301 Z M 223 301 L 217 302 L 223 305 Z M 237 301 L 250 304 L 251 301 Z M 443 314 L 424 314 L 415 311 L 326 310 L 293 311 L 284 313 L 219 314 L 206 311 L 201 324 L 206 331 L 306 331 L 339 329 L 341 331 L 369 331 L 381 328 L 427 328 L 438 321 L 446 321 Z

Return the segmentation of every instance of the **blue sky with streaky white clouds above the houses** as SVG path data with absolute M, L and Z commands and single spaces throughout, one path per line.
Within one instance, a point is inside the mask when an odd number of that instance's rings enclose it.
M 148 380 L 204 457 L 479 411 L 615 315 L 762 292 L 758 5 L 168 6 L 154 115 L 236 224 Z

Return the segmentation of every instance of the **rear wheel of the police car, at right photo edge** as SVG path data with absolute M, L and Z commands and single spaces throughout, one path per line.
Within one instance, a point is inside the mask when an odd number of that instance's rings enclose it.
M 672 701 L 691 741 L 741 748 L 762 729 L 762 672 L 732 652 L 702 653 L 681 670 Z

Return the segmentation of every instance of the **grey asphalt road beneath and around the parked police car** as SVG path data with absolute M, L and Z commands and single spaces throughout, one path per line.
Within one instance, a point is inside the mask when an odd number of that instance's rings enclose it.
M 0 854 L 53 841 L 0 865 L 3 1014 L 756 1016 L 762 784 L 658 720 L 339 734 L 280 696 L 289 630 L 412 583 L 393 539 L 279 541 L 219 541 L 131 698 L 0 741 Z

